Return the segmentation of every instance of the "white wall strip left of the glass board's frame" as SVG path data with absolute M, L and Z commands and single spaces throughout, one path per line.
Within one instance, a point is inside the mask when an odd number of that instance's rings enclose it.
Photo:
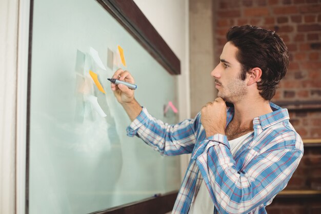
M 17 0 L 0 7 L 0 213 L 15 212 Z

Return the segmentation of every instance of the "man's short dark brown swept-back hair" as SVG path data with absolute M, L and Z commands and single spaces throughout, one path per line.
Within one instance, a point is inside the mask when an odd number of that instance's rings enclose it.
M 289 66 L 288 48 L 282 38 L 274 31 L 251 25 L 230 28 L 226 38 L 238 48 L 236 59 L 242 65 L 241 79 L 245 80 L 252 68 L 262 69 L 257 89 L 265 100 L 271 100 Z

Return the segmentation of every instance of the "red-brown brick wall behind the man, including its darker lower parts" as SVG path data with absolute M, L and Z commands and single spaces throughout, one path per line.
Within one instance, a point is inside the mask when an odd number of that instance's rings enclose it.
M 277 32 L 290 53 L 287 75 L 272 102 L 315 102 L 314 109 L 290 110 L 290 121 L 303 139 L 321 138 L 321 1 L 218 0 L 213 7 L 214 51 L 218 56 L 225 34 L 234 25 L 256 25 Z M 311 107 L 311 106 L 310 106 Z M 287 189 L 321 188 L 321 148 L 305 154 Z M 268 213 L 321 213 L 320 198 L 274 200 Z

